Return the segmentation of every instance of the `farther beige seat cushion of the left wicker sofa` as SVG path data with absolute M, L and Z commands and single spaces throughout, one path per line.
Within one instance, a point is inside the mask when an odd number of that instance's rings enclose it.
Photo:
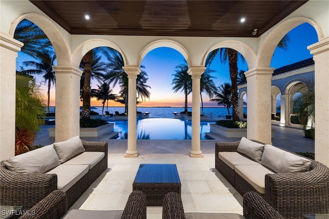
M 95 167 L 104 156 L 104 152 L 83 152 L 75 158 L 66 161 L 63 165 L 88 165 L 90 170 Z

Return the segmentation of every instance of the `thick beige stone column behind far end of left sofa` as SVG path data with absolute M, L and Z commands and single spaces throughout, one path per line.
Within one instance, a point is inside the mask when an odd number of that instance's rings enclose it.
M 55 142 L 80 135 L 80 78 L 75 66 L 52 66 L 56 76 Z

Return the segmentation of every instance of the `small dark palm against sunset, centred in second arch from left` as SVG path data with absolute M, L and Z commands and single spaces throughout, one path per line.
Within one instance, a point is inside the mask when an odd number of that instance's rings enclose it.
M 104 115 L 104 105 L 108 100 L 117 100 L 117 95 L 113 94 L 113 89 L 109 87 L 109 84 L 106 82 L 99 81 L 100 85 L 98 89 L 92 89 L 92 97 L 96 97 L 97 100 L 101 100 L 103 104 L 102 115 Z

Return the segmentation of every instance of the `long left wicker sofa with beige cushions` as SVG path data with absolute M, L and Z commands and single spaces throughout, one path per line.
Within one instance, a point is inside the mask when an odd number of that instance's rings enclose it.
M 76 136 L 2 161 L 0 204 L 28 210 L 59 189 L 70 208 L 107 169 L 107 150 L 107 142 Z

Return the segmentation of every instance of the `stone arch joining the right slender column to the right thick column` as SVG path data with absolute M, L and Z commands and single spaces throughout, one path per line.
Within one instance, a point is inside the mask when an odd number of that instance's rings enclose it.
M 217 43 L 216 45 L 212 46 L 207 53 L 205 54 L 205 57 L 203 59 L 202 65 L 205 66 L 206 59 L 209 55 L 209 53 L 218 48 L 231 48 L 234 49 L 242 54 L 242 56 L 246 59 L 246 62 L 248 64 L 248 69 L 253 69 L 256 64 L 256 55 L 252 51 L 252 49 L 247 45 L 240 41 L 235 40 L 226 40 L 220 43 Z

